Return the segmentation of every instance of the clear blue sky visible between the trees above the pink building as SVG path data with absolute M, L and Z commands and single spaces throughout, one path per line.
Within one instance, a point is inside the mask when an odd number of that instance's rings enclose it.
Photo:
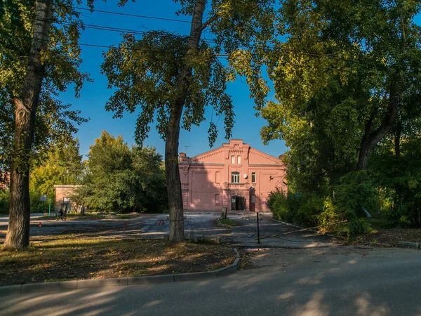
M 86 6 L 81 7 L 86 8 Z M 96 10 L 190 20 L 189 17 L 175 15 L 175 12 L 178 11 L 179 8 L 180 5 L 175 4 L 172 0 L 138 0 L 136 3 L 130 1 L 126 6 L 121 8 L 117 6 L 117 1 L 115 0 L 110 0 L 107 3 L 102 1 L 95 2 Z M 152 20 L 99 12 L 82 12 L 82 19 L 86 25 L 119 27 L 136 29 L 139 31 L 165 29 L 166 31 L 178 34 L 189 33 L 189 23 Z M 210 37 L 206 32 L 204 36 Z M 140 35 L 138 35 L 138 37 L 140 37 Z M 121 33 L 119 32 L 89 28 L 86 28 L 82 32 L 80 39 L 81 44 L 105 46 L 118 44 L 120 41 Z M 74 98 L 74 91 L 72 89 L 69 89 L 66 93 L 62 93 L 61 96 L 64 103 L 71 103 L 74 109 L 81 110 L 81 115 L 83 117 L 91 119 L 88 123 L 82 124 L 79 128 L 79 132 L 76 133 L 76 137 L 79 138 L 79 143 L 81 145 L 81 154 L 88 154 L 89 146 L 93 144 L 95 138 L 100 136 L 102 130 L 107 130 L 114 136 L 122 135 L 129 145 L 133 144 L 135 142 L 134 131 L 137 114 L 126 113 L 123 119 L 113 119 L 113 113 L 105 111 L 105 103 L 112 94 L 112 91 L 107 89 L 107 78 L 100 74 L 100 65 L 103 60 L 102 52 L 106 51 L 107 48 L 88 46 L 81 46 L 81 48 L 81 58 L 83 59 L 81 71 L 90 73 L 94 82 L 86 82 L 81 91 L 80 98 Z M 275 157 L 283 154 L 283 152 L 286 151 L 286 147 L 282 140 L 274 140 L 269 143 L 269 145 L 263 145 L 262 140 L 260 139 L 260 129 L 265 125 L 265 120 L 260 117 L 255 117 L 256 112 L 253 109 L 254 103 L 253 99 L 250 99 L 249 97 L 250 93 L 247 84 L 241 79 L 238 79 L 234 83 L 229 84 L 228 93 L 232 96 L 236 113 L 232 138 L 242 138 L 246 143 L 250 143 L 252 147 L 272 154 Z M 207 133 L 210 109 L 208 109 L 206 114 L 208 119 L 204 121 L 200 127 L 194 126 L 190 132 L 181 131 L 180 152 L 185 152 L 186 146 L 188 146 L 187 154 L 189 156 L 194 156 L 195 154 L 210 149 Z M 215 142 L 215 147 L 226 142 L 223 120 L 220 119 L 217 125 L 220 133 L 218 140 Z M 154 126 L 151 127 L 149 138 L 145 140 L 144 145 L 154 146 L 159 153 L 164 154 L 164 142 L 159 138 Z

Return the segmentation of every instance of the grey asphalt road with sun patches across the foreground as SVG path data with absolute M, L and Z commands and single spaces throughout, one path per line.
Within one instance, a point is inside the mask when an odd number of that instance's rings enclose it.
M 1 315 L 421 315 L 421 252 L 272 249 L 255 266 L 196 282 L 0 298 Z

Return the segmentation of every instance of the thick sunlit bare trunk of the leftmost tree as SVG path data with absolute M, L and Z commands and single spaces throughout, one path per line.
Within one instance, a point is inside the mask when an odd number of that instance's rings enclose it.
M 53 0 L 36 1 L 36 13 L 25 83 L 15 103 L 15 135 L 11 166 L 9 223 L 4 249 L 29 246 L 29 154 L 34 138 L 36 107 L 44 78 L 41 53 L 48 47 Z

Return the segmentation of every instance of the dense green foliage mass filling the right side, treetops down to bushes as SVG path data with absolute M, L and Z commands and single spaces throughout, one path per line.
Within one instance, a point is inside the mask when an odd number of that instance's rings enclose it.
M 276 216 L 320 225 L 348 219 L 336 230 L 349 239 L 370 230 L 366 211 L 380 209 L 387 226 L 421 225 L 420 8 L 417 1 L 281 1 L 286 40 L 269 54 L 276 102 L 261 111 L 261 135 L 289 147 L 288 190 L 300 195 L 274 200 Z M 386 124 L 395 98 L 394 125 Z M 377 135 L 369 172 L 353 172 L 364 142 Z M 309 203 L 313 197 L 322 208 Z

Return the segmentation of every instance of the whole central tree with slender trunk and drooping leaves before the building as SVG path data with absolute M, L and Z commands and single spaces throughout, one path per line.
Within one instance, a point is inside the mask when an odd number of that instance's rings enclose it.
M 246 76 L 251 96 L 256 106 L 261 107 L 268 88 L 260 77 L 259 56 L 265 51 L 263 44 L 276 37 L 274 1 L 209 2 L 209 17 L 203 22 L 206 0 L 180 0 L 179 13 L 192 16 L 189 37 L 154 31 L 135 39 L 133 34 L 125 34 L 119 46 L 105 53 L 102 64 L 109 88 L 115 88 L 107 110 L 121 117 L 126 110 L 141 109 L 135 131 L 139 143 L 147 137 L 156 114 L 156 129 L 166 140 L 170 240 L 175 242 L 184 239 L 178 170 L 180 124 L 187 130 L 192 124 L 201 124 L 205 107 L 211 106 L 216 116 L 224 117 L 225 134 L 229 138 L 234 107 L 225 93 L 227 81 L 234 80 L 236 74 Z M 202 39 L 206 28 L 215 36 L 215 46 Z M 229 55 L 227 67 L 218 60 L 222 51 Z M 213 145 L 218 133 L 213 121 L 208 133 L 209 143 Z

